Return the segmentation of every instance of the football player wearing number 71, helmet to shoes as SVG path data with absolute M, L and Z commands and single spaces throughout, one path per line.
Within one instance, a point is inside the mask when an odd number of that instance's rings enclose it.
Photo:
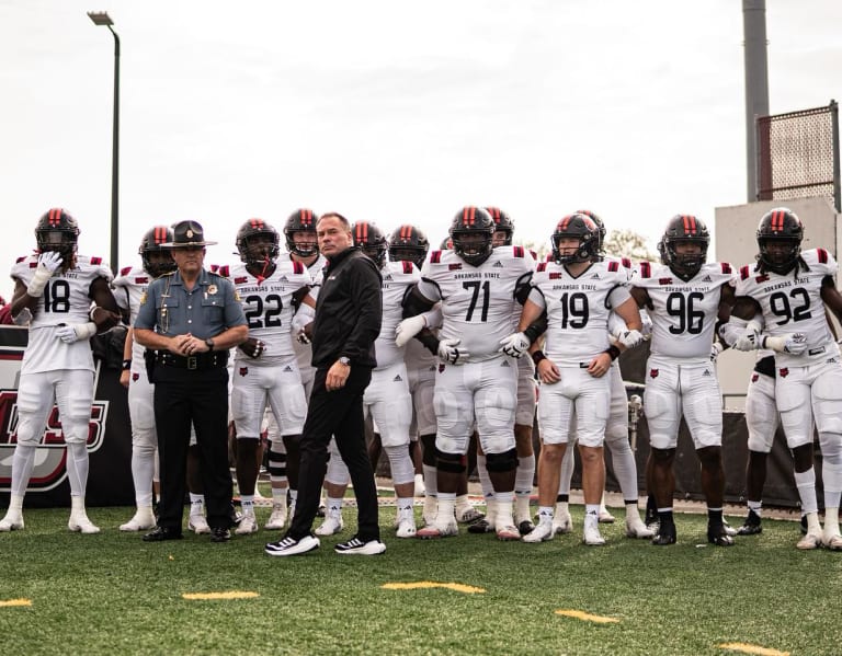
M 526 300 L 534 260 L 521 246 L 493 248 L 494 221 L 479 207 L 465 207 L 451 223 L 453 251 L 435 251 L 407 299 L 409 314 L 441 301 L 436 352 L 437 510 L 421 538 L 458 532 L 454 506 L 465 472 L 463 457 L 476 423 L 494 488 L 497 537 L 519 540 L 512 506 L 517 468 L 514 415 L 517 371 L 500 352 L 512 315 Z

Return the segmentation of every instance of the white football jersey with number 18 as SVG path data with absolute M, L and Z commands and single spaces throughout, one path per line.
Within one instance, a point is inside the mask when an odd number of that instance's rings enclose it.
M 77 255 L 76 267 L 56 272 L 38 298 L 38 307 L 30 322 L 30 336 L 21 365 L 22 373 L 55 371 L 56 369 L 88 369 L 93 371 L 93 355 L 88 339 L 66 344 L 56 336 L 56 327 L 90 321 L 91 285 L 96 278 L 111 281 L 111 269 L 101 257 Z M 20 257 L 12 266 L 12 278 L 29 286 L 38 256 Z

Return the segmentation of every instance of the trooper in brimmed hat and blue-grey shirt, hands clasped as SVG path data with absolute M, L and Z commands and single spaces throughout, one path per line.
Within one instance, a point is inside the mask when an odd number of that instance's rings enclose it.
M 191 425 L 196 430 L 210 539 L 226 542 L 231 526 L 228 468 L 228 349 L 248 337 L 242 304 L 230 280 L 203 266 L 202 226 L 173 227 L 178 269 L 156 278 L 140 299 L 135 339 L 146 346 L 155 383 L 155 424 L 161 464 L 158 527 L 147 542 L 181 538 Z

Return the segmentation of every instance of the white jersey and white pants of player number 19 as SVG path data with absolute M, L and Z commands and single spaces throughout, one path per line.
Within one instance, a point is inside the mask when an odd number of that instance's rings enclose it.
M 561 380 L 543 384 L 538 399 L 541 435 L 566 444 L 576 415 L 579 442 L 599 447 L 608 418 L 611 378 L 588 373 L 590 362 L 610 346 L 608 314 L 630 298 L 628 274 L 615 262 L 596 262 L 578 276 L 566 266 L 543 262 L 530 300 L 547 311 L 544 353 Z

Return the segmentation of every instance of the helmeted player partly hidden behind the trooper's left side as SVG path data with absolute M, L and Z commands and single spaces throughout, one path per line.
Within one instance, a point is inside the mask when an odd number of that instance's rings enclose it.
M 140 307 L 140 297 L 149 281 L 175 271 L 172 252 L 161 246 L 172 241 L 172 229 L 156 226 L 144 233 L 138 254 L 141 267 L 128 266 L 120 272 L 112 286 L 117 306 L 128 313 L 132 326 Z M 155 528 L 152 511 L 152 482 L 156 477 L 158 434 L 152 411 L 152 383 L 146 371 L 144 347 L 135 343 L 132 327 L 126 333 L 123 370 L 120 382 L 128 389 L 128 416 L 132 421 L 132 481 L 135 485 L 137 510 L 134 517 L 120 526 L 121 531 L 145 531 Z M 209 527 L 208 527 L 209 529 Z

